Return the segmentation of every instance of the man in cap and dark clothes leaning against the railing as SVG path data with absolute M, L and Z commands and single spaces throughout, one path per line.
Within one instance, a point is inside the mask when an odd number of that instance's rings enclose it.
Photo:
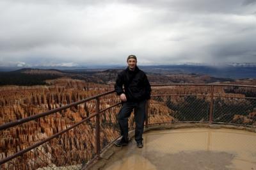
M 135 117 L 135 141 L 138 148 L 143 148 L 143 128 L 145 121 L 145 105 L 150 98 L 150 84 L 147 75 L 137 66 L 137 58 L 130 55 L 127 58 L 127 68 L 118 74 L 115 84 L 115 91 L 120 95 L 122 108 L 118 113 L 118 123 L 122 139 L 116 141 L 115 145 L 126 146 L 128 138 L 128 118 L 134 109 Z M 124 85 L 124 90 L 123 90 Z

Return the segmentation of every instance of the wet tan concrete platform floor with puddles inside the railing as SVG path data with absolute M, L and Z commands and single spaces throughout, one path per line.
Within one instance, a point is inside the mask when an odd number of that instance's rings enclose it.
M 244 130 L 185 128 L 152 130 L 123 146 L 102 169 L 256 170 L 256 133 Z

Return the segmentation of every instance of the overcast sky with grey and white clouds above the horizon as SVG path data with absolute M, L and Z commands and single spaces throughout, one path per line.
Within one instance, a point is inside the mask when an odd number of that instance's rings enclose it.
M 0 66 L 255 63 L 256 0 L 1 0 Z

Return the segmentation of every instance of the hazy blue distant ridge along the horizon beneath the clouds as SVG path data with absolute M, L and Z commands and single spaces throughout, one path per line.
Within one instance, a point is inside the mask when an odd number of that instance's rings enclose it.
M 49 68 L 49 69 L 42 69 L 42 68 L 19 68 L 17 69 L 18 72 L 26 72 L 31 71 L 35 72 L 35 69 L 39 70 L 48 70 L 52 72 L 58 73 L 85 73 L 85 74 L 93 74 L 98 72 L 113 72 L 115 70 L 122 70 L 126 66 L 108 66 L 104 68 L 77 68 L 77 67 L 70 67 L 67 69 L 57 68 Z M 147 73 L 158 73 L 158 74 L 202 74 L 202 75 L 209 75 L 212 77 L 220 77 L 220 78 L 230 78 L 230 79 L 256 79 L 256 63 L 228 63 L 225 65 L 200 65 L 200 64 L 183 64 L 183 65 L 148 65 L 143 66 L 139 65 L 141 70 Z M 6 72 L 7 68 L 0 67 L 0 72 Z M 12 68 L 13 69 L 13 68 Z M 46 71 L 42 71 L 46 72 Z

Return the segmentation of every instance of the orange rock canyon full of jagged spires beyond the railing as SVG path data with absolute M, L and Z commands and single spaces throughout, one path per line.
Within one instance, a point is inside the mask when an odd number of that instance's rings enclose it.
M 54 72 L 26 72 L 28 74 L 37 73 L 54 73 Z M 27 118 L 41 112 L 56 109 L 63 105 L 77 102 L 84 98 L 93 97 L 113 90 L 115 76 L 118 71 L 108 70 L 99 72 L 86 80 L 72 79 L 66 74 L 58 79 L 49 79 L 45 82 L 47 85 L 36 86 L 1 86 L 0 87 L 0 125 L 22 118 Z M 81 77 L 80 77 L 81 78 Z M 92 78 L 92 79 L 91 79 Z M 211 78 L 207 76 L 196 75 L 154 75 L 149 74 L 148 79 L 151 84 L 170 83 L 170 82 L 188 82 L 188 83 L 205 83 Z M 88 81 L 90 80 L 90 81 Z M 243 81 L 236 81 L 237 84 L 243 84 Z M 254 84 L 254 80 L 244 80 L 245 83 Z M 223 82 L 227 83 L 228 82 Z M 234 83 L 235 84 L 235 83 Z M 246 92 L 246 93 L 245 93 Z M 221 121 L 229 123 L 239 123 L 244 125 L 256 125 L 256 106 L 255 100 L 248 102 L 244 97 L 255 95 L 255 88 L 223 88 L 216 87 L 214 95 L 216 98 L 225 96 L 216 100 L 218 107 L 221 105 L 243 104 L 248 109 L 241 111 L 241 114 L 232 114 L 231 118 L 222 113 L 214 117 Z M 154 95 L 177 95 L 177 96 L 154 96 Z M 180 95 L 180 96 L 179 96 Z M 182 95 L 201 95 L 198 97 L 184 97 Z M 154 86 L 152 87 L 152 98 L 149 102 L 148 123 L 171 123 L 172 121 L 184 121 L 182 119 L 187 111 L 199 110 L 193 107 L 196 102 L 200 103 L 197 107 L 209 105 L 209 86 Z M 111 105 L 120 102 L 115 93 L 110 93 L 100 97 L 100 110 L 106 109 Z M 186 106 L 186 107 L 182 107 Z M 37 120 L 23 123 L 12 128 L 0 131 L 0 160 L 13 155 L 17 151 L 24 150 L 39 141 L 51 137 L 51 135 L 61 132 L 75 123 L 88 118 L 95 113 L 96 100 L 90 100 L 76 107 L 70 107 L 61 112 L 56 112 L 38 118 Z M 119 127 L 116 121 L 116 115 L 120 105 L 108 109 L 100 114 L 100 146 L 104 146 L 115 140 L 119 134 Z M 193 110 L 194 109 L 194 110 Z M 199 108 L 200 109 L 200 108 Z M 203 110 L 203 109 L 201 109 Z M 200 111 L 201 112 L 201 111 Z M 243 113 L 243 114 L 242 114 Z M 246 113 L 246 114 L 245 114 Z M 195 121 L 207 121 L 209 108 L 198 115 L 189 114 L 195 117 Z M 224 117 L 223 117 L 224 114 Z M 221 117 L 222 116 L 222 117 Z M 130 129 L 134 128 L 134 116 L 129 118 Z M 188 117 L 189 119 L 189 117 Z M 45 166 L 70 166 L 76 164 L 86 164 L 88 160 L 94 157 L 96 153 L 95 146 L 95 118 L 85 121 L 81 125 L 61 134 L 51 141 L 38 146 L 37 148 L 25 153 L 24 155 L 1 165 L 5 169 L 37 169 Z M 21 161 L 22 160 L 22 161 Z M 27 164 L 24 164 L 27 162 Z

